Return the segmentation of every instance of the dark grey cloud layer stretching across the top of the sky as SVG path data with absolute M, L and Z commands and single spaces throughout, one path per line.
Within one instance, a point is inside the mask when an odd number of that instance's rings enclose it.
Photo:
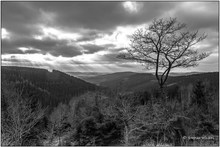
M 37 24 L 45 23 L 63 29 L 113 30 L 119 25 L 140 24 L 158 18 L 164 12 L 181 5 L 180 2 L 137 2 L 137 13 L 128 13 L 122 2 L 2 2 L 2 26 L 18 35 L 38 34 Z M 218 3 L 205 3 L 204 13 L 178 9 L 175 16 L 198 27 L 218 26 Z M 190 8 L 193 9 L 193 8 Z M 54 22 L 45 22 L 42 12 L 54 14 Z M 49 17 L 49 16 L 48 16 Z M 169 17 L 169 16 L 168 16 Z M 81 41 L 100 37 L 83 35 Z M 79 40 L 80 41 L 80 40 Z

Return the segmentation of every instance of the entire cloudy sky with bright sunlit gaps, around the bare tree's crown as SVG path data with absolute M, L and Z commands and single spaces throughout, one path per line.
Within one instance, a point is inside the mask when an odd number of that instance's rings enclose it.
M 74 72 L 144 72 L 117 59 L 129 35 L 154 18 L 177 17 L 208 34 L 196 46 L 212 54 L 199 66 L 218 70 L 218 2 L 2 2 L 2 65 Z

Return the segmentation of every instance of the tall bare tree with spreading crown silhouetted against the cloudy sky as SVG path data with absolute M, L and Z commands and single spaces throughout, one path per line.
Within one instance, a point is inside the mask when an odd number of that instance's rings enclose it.
M 163 92 L 171 69 L 197 66 L 197 61 L 209 55 L 193 49 L 206 35 L 199 36 L 198 31 L 190 32 L 186 28 L 186 24 L 177 22 L 176 18 L 155 19 L 149 28 L 138 29 L 131 36 L 130 48 L 118 58 L 143 63 L 147 69 L 156 69 L 155 76 Z

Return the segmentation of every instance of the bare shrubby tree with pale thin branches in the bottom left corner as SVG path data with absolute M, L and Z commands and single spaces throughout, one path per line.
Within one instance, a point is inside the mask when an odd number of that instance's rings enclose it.
M 45 109 L 39 103 L 32 109 L 31 98 L 23 98 L 22 91 L 15 91 L 14 87 L 3 86 L 2 99 L 7 107 L 2 109 L 1 115 L 1 145 L 21 146 L 31 129 L 43 118 Z

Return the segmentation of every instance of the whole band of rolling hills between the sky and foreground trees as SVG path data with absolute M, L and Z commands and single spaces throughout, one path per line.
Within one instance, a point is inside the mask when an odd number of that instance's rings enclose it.
M 13 66 L 2 66 L 1 69 L 2 88 L 4 83 L 12 83 L 16 88 L 22 89 L 27 96 L 39 99 L 45 106 L 56 106 L 59 102 L 68 102 L 74 96 L 100 90 L 101 87 L 122 92 L 137 92 L 151 91 L 158 86 L 152 73 L 92 74 L 92 76 L 82 76 L 83 80 L 81 80 L 57 70 L 49 72 L 45 69 Z M 217 90 L 219 88 L 218 72 L 192 73 L 185 76 L 182 74 L 176 73 L 170 76 L 167 86 L 189 85 L 200 80 L 209 82 Z

